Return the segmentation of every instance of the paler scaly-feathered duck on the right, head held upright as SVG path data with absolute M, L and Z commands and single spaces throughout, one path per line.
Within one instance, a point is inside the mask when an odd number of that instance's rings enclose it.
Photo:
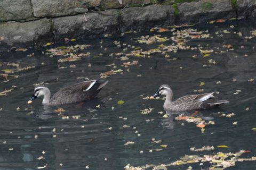
M 159 87 L 155 95 L 156 98 L 160 95 L 165 95 L 164 109 L 165 111 L 193 111 L 201 109 L 211 109 L 222 104 L 229 103 L 228 100 L 218 100 L 218 97 L 213 96 L 214 92 L 188 95 L 178 98 L 173 101 L 173 92 L 169 85 L 163 84 Z

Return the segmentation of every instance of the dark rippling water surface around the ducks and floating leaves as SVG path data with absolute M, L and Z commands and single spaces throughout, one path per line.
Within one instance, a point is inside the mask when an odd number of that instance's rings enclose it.
M 255 82 L 256 80 L 256 38 L 245 41 L 256 29 L 251 20 L 228 21 L 224 23 L 197 25 L 198 31 L 209 30 L 212 38 L 188 39 L 186 46 L 203 49 L 213 49 L 216 53 L 203 57 L 198 49 L 178 50 L 177 53 L 167 52 L 169 58 L 161 53 L 151 54 L 150 58 L 129 56 L 129 60 L 121 61 L 119 57 L 133 50 L 127 45 L 141 47 L 143 50 L 156 48 L 160 44 L 171 45 L 172 40 L 152 45 L 139 44 L 135 39 L 140 36 L 154 33 L 164 37 L 171 37 L 172 32 L 143 32 L 131 33 L 113 38 L 98 38 L 80 40 L 69 44 L 55 44 L 42 49 L 29 49 L 26 52 L 1 53 L 1 70 L 12 69 L 7 63 L 19 63 L 20 67 L 35 66 L 33 69 L 10 73 L 19 75 L 18 78 L 9 76 L 8 82 L 1 78 L 0 91 L 9 90 L 16 86 L 6 96 L 0 96 L 0 169 L 36 169 L 47 164 L 47 169 L 123 169 L 127 164 L 142 166 L 146 164 L 171 163 L 181 156 L 193 154 L 210 154 L 211 152 L 195 153 L 190 147 L 201 148 L 209 145 L 217 147 L 226 145 L 230 148 L 217 148 L 214 152 L 236 152 L 241 149 L 251 150 L 243 155 L 250 158 L 255 155 L 255 135 L 252 128 L 256 128 L 255 117 Z M 234 29 L 229 26 L 234 25 Z M 189 29 L 179 28 L 179 30 Z M 230 33 L 217 31 L 228 30 Z M 234 32 L 241 32 L 242 36 Z M 100 42 L 103 42 L 102 44 Z M 117 47 L 113 41 L 121 41 Z M 84 52 L 91 52 L 89 57 L 82 57 L 80 61 L 59 63 L 63 56 L 49 57 L 42 54 L 46 49 L 70 46 L 76 44 L 90 44 Z M 127 44 L 127 45 L 123 45 Z M 228 50 L 223 45 L 232 45 L 234 50 Z M 100 47 L 102 46 L 102 48 Z M 123 49 L 127 50 L 123 52 Z M 104 50 L 104 48 L 108 48 Z M 221 54 L 221 51 L 226 53 Z M 111 53 L 121 53 L 121 56 L 109 56 Z M 34 53 L 32 57 L 28 54 Z M 99 54 L 102 56 L 98 56 Z M 193 55 L 197 55 L 193 58 Z M 173 57 L 177 60 L 170 60 Z M 217 64 L 209 65 L 213 59 Z M 138 65 L 121 66 L 124 62 L 138 61 Z M 4 63 L 3 63 L 4 62 Z M 44 64 L 42 64 L 44 63 Z M 58 107 L 42 106 L 42 99 L 38 98 L 32 105 L 27 100 L 33 93 L 33 83 L 44 82 L 51 92 L 59 88 L 83 81 L 78 77 L 100 79 L 100 73 L 113 69 L 122 69 L 123 74 L 110 75 L 109 83 L 102 89 L 97 99 L 83 105 L 70 104 Z M 76 68 L 69 68 L 69 65 Z M 91 64 L 91 67 L 88 66 Z M 206 67 L 203 65 L 207 65 Z M 58 69 L 67 66 L 66 69 Z M 182 69 L 180 68 L 182 67 Z M 130 69 L 127 71 L 127 69 Z M 1 71 L 0 73 L 4 73 Z M 138 77 L 138 75 L 140 75 Z M 233 81 L 236 79 L 237 81 Z M 199 82 L 205 82 L 199 87 Z M 221 81 L 220 84 L 216 82 Z M 195 94 L 194 90 L 204 89 L 204 92 L 219 91 L 221 99 L 230 101 L 230 104 L 221 106 L 221 109 L 199 112 L 201 117 L 211 117 L 215 125 L 206 126 L 204 133 L 193 123 L 174 121 L 175 116 L 163 118 L 158 112 L 163 111 L 162 100 L 143 100 L 143 97 L 153 95 L 161 84 L 170 84 L 174 92 L 174 99 L 183 95 Z M 241 90 L 234 95 L 236 90 Z M 141 96 L 143 95 L 143 96 Z M 112 100 L 109 100 L 111 98 Z M 118 100 L 124 100 L 123 105 L 117 105 Z M 101 105 L 100 108 L 95 106 Z M 112 109 L 111 107 L 115 107 Z M 17 111 L 17 107 L 20 111 Z M 69 116 L 63 120 L 54 112 L 62 107 L 63 113 Z M 249 111 L 245 109 L 249 107 Z M 27 108 L 27 110 L 25 110 Z M 150 114 L 143 115 L 140 110 L 155 108 Z M 96 109 L 95 112 L 92 110 Z M 234 112 L 231 118 L 219 117 L 217 112 Z M 191 112 L 193 113 L 193 112 Z M 80 115 L 79 119 L 72 116 Z M 126 117 L 127 120 L 124 120 Z M 146 121 L 151 120 L 151 121 Z M 165 125 L 161 125 L 161 123 Z M 233 125 L 237 122 L 237 125 Z M 129 125 L 130 128 L 123 128 Z M 81 128 L 83 127 L 83 128 Z M 111 128 L 110 128 L 111 127 Z M 133 128 L 133 127 L 136 127 Z M 52 132 L 55 128 L 56 132 Z M 111 130 L 109 130 L 109 128 Z M 138 133 L 135 133 L 138 131 Z M 138 136 L 140 134 L 140 136 Z M 35 139 L 37 135 L 37 139 Z M 53 135 L 56 135 L 54 138 Z M 151 143 L 151 138 L 161 139 L 162 143 Z M 134 145 L 125 146 L 127 141 Z M 159 145 L 168 145 L 161 151 L 149 152 L 159 148 Z M 45 154 L 42 154 L 45 151 Z M 140 153 L 143 151 L 143 154 Z M 38 160 L 43 156 L 44 159 Z M 199 163 L 170 167 L 170 169 L 186 169 L 193 166 L 201 169 Z M 255 169 L 255 162 L 237 163 L 229 169 Z M 204 169 L 210 165 L 205 164 Z

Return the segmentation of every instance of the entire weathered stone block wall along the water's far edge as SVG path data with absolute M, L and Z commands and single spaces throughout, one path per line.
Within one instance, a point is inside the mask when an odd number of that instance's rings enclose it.
M 175 2 L 178 1 L 1 0 L 0 48 L 256 15 L 254 0 Z

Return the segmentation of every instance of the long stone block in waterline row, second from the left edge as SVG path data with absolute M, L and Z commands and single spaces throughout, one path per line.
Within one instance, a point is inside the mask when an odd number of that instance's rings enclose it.
M 53 19 L 55 37 L 81 38 L 115 32 L 118 29 L 118 11 L 87 13 Z

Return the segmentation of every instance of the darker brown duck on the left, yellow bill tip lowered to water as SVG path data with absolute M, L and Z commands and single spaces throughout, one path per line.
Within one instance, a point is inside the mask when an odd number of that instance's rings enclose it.
M 43 96 L 43 105 L 54 106 L 90 100 L 96 97 L 107 83 L 108 81 L 102 82 L 98 80 L 79 82 L 60 89 L 52 96 L 52 98 L 49 88 L 37 86 L 34 89 L 33 96 L 28 100 L 28 104 L 33 103 L 33 101 L 39 96 Z

